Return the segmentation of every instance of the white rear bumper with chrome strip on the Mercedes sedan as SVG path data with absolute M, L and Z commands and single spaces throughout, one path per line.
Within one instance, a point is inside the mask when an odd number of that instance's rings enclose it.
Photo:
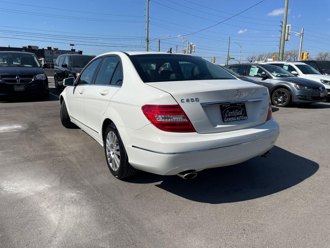
M 273 148 L 280 134 L 279 124 L 273 118 L 249 129 L 216 134 L 169 133 L 152 124 L 139 130 L 117 128 L 129 163 L 160 175 L 246 161 Z

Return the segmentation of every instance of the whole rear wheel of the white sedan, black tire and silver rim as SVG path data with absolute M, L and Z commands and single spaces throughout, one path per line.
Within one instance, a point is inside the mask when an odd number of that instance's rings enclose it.
M 118 179 L 131 177 L 137 173 L 137 169 L 128 162 L 125 146 L 120 138 L 116 125 L 108 125 L 104 134 L 104 152 L 109 170 Z

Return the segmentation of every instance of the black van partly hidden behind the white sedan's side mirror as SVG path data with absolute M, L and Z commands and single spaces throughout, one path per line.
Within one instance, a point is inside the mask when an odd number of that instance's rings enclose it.
M 77 73 L 95 56 L 81 54 L 63 54 L 57 57 L 54 65 L 54 81 L 56 90 L 63 89 L 63 80 L 68 77 L 77 78 Z

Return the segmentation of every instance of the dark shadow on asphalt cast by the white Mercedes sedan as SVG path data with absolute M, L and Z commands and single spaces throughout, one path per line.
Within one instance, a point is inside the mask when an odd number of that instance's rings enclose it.
M 275 146 L 267 158 L 255 157 L 237 165 L 203 170 L 194 179 L 158 175 L 153 179 L 154 182 L 163 180 L 155 186 L 183 198 L 219 204 L 274 194 L 301 183 L 318 168 L 314 161 Z M 127 181 L 151 183 L 151 175 L 142 172 L 138 175 L 140 179 L 134 177 Z

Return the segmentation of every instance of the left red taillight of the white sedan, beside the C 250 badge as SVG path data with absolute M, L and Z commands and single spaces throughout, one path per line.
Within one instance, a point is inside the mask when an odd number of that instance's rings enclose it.
M 144 105 L 142 112 L 157 128 L 167 132 L 196 132 L 180 105 Z

